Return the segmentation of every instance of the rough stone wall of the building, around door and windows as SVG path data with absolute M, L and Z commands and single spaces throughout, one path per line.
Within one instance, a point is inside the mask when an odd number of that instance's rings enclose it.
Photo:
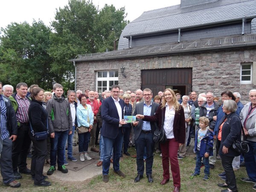
M 192 90 L 212 91 L 220 96 L 224 90 L 241 93 L 243 103 L 248 101 L 250 89 L 256 89 L 256 75 L 253 84 L 240 84 L 240 65 L 256 61 L 256 48 L 179 54 L 134 59 L 109 59 L 104 61 L 83 61 L 77 63 L 77 89 L 96 90 L 96 72 L 118 70 L 119 86 L 123 90 L 135 91 L 141 88 L 141 70 L 166 68 L 192 68 Z M 256 63 L 253 64 L 253 69 Z M 126 78 L 120 67 L 125 66 Z

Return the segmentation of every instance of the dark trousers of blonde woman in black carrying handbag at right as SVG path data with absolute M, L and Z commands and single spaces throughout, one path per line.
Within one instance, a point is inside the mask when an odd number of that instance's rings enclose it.
M 221 163 L 226 173 L 226 183 L 228 188 L 233 192 L 237 192 L 236 187 L 236 175 L 233 170 L 232 161 L 234 157 L 228 157 L 226 155 L 220 154 L 221 156 Z

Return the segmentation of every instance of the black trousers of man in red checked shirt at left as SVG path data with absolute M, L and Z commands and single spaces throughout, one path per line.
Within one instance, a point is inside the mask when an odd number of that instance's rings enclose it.
M 17 173 L 26 169 L 26 158 L 31 140 L 29 137 L 29 125 L 20 125 L 18 127 L 17 139 L 13 142 L 12 148 L 12 168 Z

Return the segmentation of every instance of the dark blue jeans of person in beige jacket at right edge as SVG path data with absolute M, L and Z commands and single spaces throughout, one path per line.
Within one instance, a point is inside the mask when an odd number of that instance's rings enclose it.
M 248 177 L 256 182 L 256 142 L 248 142 L 250 150 L 244 154 L 244 162 Z

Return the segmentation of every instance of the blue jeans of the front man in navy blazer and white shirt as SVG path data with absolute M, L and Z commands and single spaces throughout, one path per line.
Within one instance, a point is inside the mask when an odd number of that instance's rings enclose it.
M 103 136 L 103 140 L 104 140 L 104 158 L 102 163 L 102 175 L 108 175 L 112 148 L 113 148 L 113 169 L 114 171 L 119 171 L 119 160 L 121 156 L 122 141 L 123 141 L 122 128 L 118 128 L 118 134 L 115 139 L 111 139 L 109 137 Z

